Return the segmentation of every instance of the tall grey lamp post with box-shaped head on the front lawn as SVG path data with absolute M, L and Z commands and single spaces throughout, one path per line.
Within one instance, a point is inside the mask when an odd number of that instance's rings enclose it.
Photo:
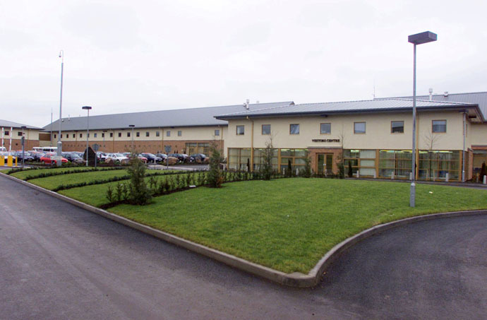
M 414 45 L 414 62 L 413 62 L 413 158 L 411 163 L 412 179 L 411 189 L 409 192 L 409 206 L 416 206 L 416 45 L 436 41 L 437 35 L 433 32 L 421 32 L 416 35 L 409 35 L 407 41 Z

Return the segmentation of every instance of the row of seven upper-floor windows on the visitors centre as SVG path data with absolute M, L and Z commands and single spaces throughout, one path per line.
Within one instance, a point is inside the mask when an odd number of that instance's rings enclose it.
M 445 134 L 446 133 L 446 120 L 433 120 L 431 125 L 431 131 L 433 134 Z M 270 124 L 262 125 L 262 135 L 270 135 Z M 320 124 L 320 134 L 331 134 L 332 124 L 330 122 Z M 365 134 L 366 122 L 354 122 L 354 134 Z M 404 121 L 391 121 L 390 122 L 391 134 L 404 133 Z M 236 135 L 243 136 L 245 134 L 245 126 L 236 126 Z M 299 134 L 299 124 L 289 124 L 289 134 Z

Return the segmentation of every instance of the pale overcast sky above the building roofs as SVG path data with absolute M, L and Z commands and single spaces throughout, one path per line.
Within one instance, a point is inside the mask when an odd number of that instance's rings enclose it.
M 487 1 L 1 1 L 0 119 L 487 90 Z

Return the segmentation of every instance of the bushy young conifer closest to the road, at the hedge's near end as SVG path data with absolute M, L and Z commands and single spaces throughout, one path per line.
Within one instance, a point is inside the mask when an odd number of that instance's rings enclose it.
M 129 186 L 129 196 L 128 199 L 130 203 L 143 206 L 150 202 L 152 196 L 150 195 L 150 190 L 145 184 L 145 165 L 137 157 L 136 153 L 132 153 L 130 159 L 130 166 L 127 169 L 128 176 L 130 177 L 131 183 Z

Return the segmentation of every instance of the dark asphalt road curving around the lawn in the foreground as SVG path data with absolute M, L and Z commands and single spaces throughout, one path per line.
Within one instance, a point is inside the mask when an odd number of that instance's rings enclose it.
M 0 190 L 0 319 L 487 318 L 487 215 L 388 230 L 294 289 L 4 177 Z

